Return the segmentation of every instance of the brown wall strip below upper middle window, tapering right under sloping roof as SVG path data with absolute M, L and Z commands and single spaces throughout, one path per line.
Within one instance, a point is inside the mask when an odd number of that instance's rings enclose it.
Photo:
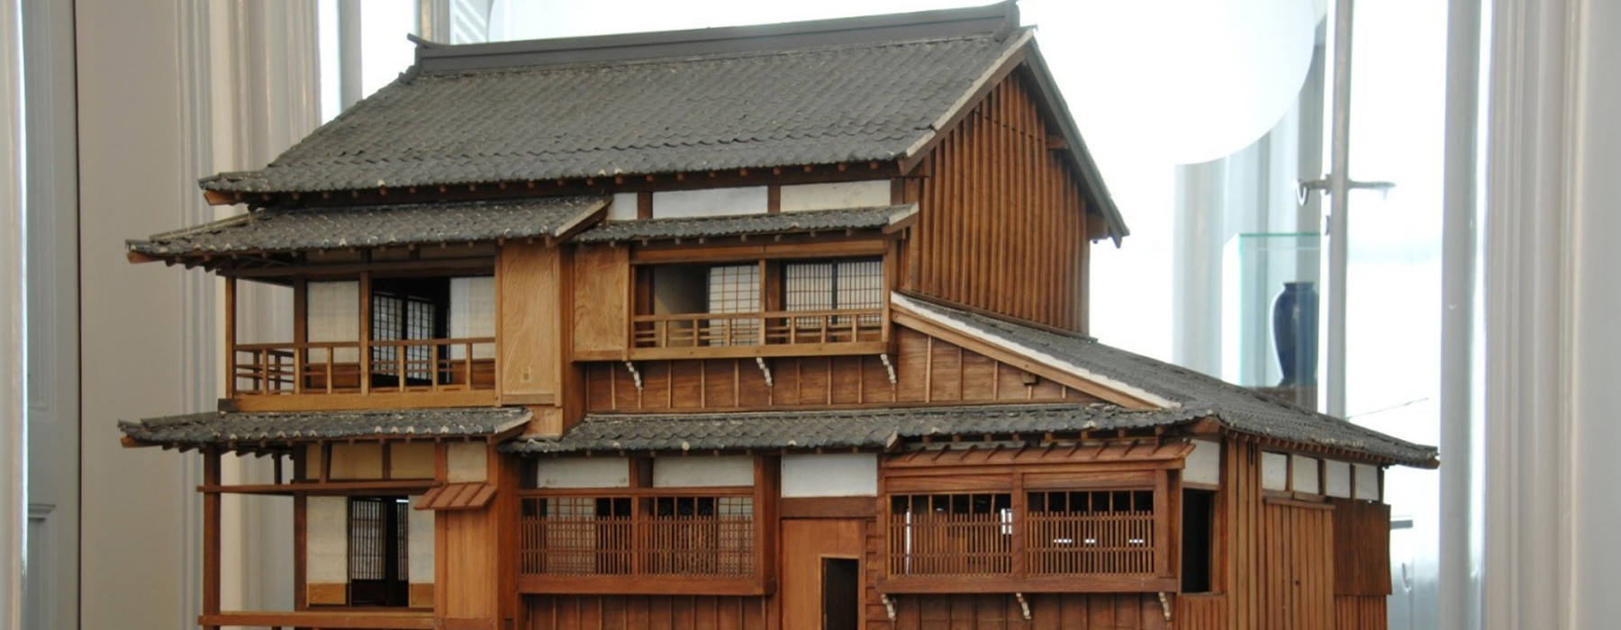
M 877 356 L 637 361 L 642 390 L 622 363 L 585 368 L 588 411 L 759 410 L 997 400 L 1097 402 L 1023 369 L 911 329 L 896 330 L 896 382 Z

